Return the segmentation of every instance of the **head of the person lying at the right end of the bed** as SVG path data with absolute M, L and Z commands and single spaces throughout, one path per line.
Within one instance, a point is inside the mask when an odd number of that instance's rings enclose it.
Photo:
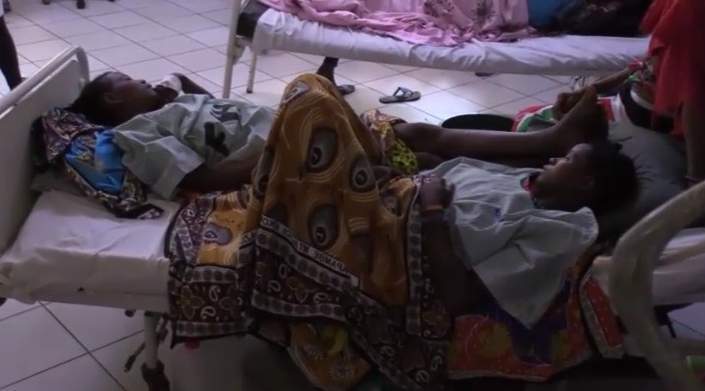
M 596 214 L 623 206 L 638 191 L 632 160 L 618 144 L 578 144 L 562 158 L 551 159 L 532 186 L 534 197 L 550 209 L 589 207 Z

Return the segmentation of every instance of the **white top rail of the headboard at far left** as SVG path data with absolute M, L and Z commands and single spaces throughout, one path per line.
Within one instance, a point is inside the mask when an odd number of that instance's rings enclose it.
M 86 52 L 83 50 L 83 48 L 78 46 L 69 47 L 54 56 L 54 58 L 49 60 L 43 67 L 41 67 L 37 71 L 37 73 L 32 75 L 32 77 L 23 81 L 19 86 L 17 86 L 17 88 L 10 91 L 9 94 L 5 95 L 0 100 L 0 113 L 4 113 L 5 110 L 16 105 L 25 95 L 27 95 L 36 86 L 46 80 L 49 75 L 56 72 L 64 63 L 66 63 L 67 60 L 73 57 L 76 57 L 78 59 L 78 63 L 81 67 L 81 73 L 86 78 L 84 82 L 88 82 L 88 78 L 90 76 L 88 73 L 88 57 L 86 56 Z

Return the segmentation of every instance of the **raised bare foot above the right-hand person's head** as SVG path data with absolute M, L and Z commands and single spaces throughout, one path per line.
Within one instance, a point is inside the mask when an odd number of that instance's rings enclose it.
M 603 108 L 597 103 L 597 91 L 590 87 L 580 101 L 551 128 L 556 140 L 556 152 L 566 154 L 580 143 L 607 138 L 609 123 Z

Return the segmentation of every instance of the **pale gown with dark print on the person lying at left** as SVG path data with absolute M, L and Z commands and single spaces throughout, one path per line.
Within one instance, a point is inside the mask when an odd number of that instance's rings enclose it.
M 253 161 L 264 149 L 274 110 L 206 95 L 181 95 L 162 109 L 115 128 L 123 164 L 171 198 L 183 178 L 201 165 Z

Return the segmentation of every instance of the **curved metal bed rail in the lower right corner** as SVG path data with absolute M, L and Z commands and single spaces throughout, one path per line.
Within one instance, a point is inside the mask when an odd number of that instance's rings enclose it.
M 612 256 L 610 298 L 641 352 L 673 391 L 703 391 L 686 367 L 688 346 L 677 346 L 654 316 L 653 272 L 668 241 L 705 213 L 705 182 L 650 213 L 619 241 Z

